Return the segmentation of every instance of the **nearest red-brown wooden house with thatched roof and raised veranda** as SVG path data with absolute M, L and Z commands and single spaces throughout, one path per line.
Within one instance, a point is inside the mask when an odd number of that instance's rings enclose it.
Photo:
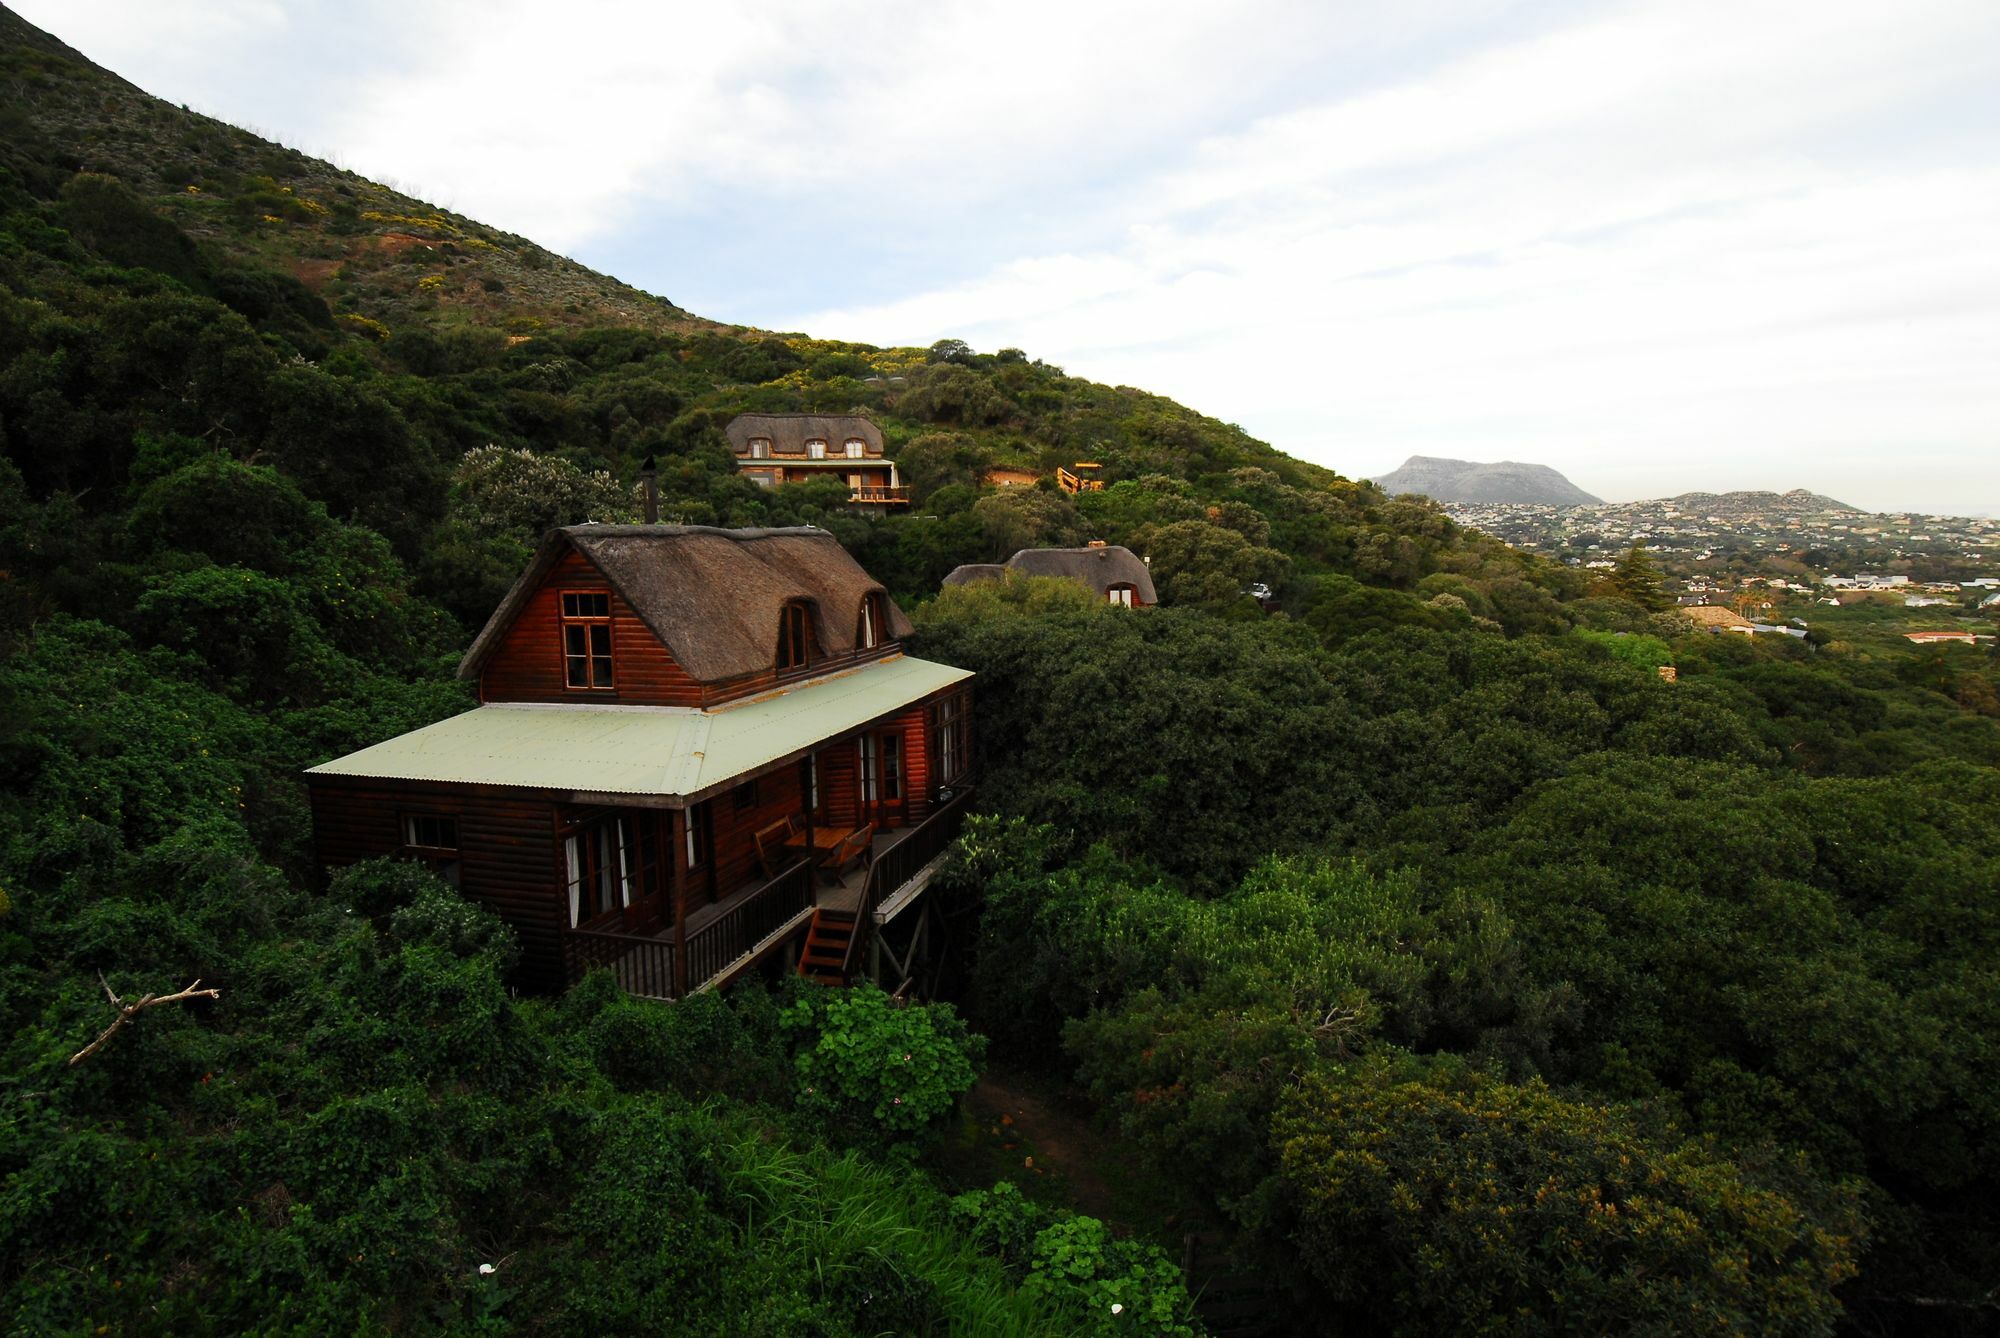
M 972 774 L 970 672 L 908 630 L 824 530 L 554 530 L 460 664 L 478 708 L 306 774 L 320 860 L 432 864 L 528 988 L 900 984 Z

